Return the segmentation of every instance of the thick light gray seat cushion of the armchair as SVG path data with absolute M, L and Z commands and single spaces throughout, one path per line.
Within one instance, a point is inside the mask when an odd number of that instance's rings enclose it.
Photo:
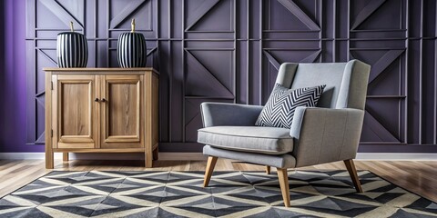
M 198 130 L 198 143 L 261 154 L 293 151 L 290 129 L 265 126 L 212 126 Z

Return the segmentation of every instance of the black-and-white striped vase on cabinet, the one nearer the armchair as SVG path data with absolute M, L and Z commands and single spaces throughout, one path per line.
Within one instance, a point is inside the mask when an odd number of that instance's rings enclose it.
M 147 45 L 140 33 L 123 33 L 118 36 L 118 64 L 124 68 L 145 67 L 147 63 Z

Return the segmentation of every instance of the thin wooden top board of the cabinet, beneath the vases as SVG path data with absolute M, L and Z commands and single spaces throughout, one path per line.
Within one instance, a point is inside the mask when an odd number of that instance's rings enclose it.
M 43 68 L 46 72 L 56 72 L 56 73 L 140 73 L 145 71 L 151 71 L 159 74 L 157 70 L 152 67 L 141 67 L 141 68 L 58 68 L 58 67 L 45 67 Z

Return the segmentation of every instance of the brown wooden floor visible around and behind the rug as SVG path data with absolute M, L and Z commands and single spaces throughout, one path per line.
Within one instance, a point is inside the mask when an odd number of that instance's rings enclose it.
M 55 161 L 61 171 L 204 171 L 203 161 L 157 161 L 154 168 L 143 161 Z M 358 170 L 369 170 L 402 188 L 437 202 L 437 161 L 355 161 Z M 342 162 L 320 164 L 298 170 L 344 170 Z M 215 171 L 264 171 L 264 166 L 219 159 Z M 275 169 L 272 168 L 272 172 Z M 43 160 L 0 160 L 0 197 L 51 172 Z

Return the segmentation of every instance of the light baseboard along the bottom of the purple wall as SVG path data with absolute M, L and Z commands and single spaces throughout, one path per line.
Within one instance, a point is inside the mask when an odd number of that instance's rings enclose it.
M 1 160 L 25 160 L 45 158 L 44 153 L 0 153 Z M 62 159 L 61 153 L 55 153 L 55 159 Z M 73 160 L 141 160 L 143 154 L 70 154 Z M 159 153 L 161 161 L 206 161 L 201 153 Z M 396 154 L 396 153 L 359 153 L 356 160 L 363 161 L 437 161 L 437 154 Z

